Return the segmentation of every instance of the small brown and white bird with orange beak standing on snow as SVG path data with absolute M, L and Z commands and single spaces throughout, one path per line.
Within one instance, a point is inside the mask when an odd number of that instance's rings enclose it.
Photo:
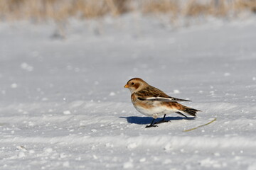
M 145 128 L 157 127 L 155 124 L 168 122 L 165 120 L 166 114 L 178 113 L 188 118 L 184 114 L 196 117 L 196 113 L 199 112 L 197 109 L 178 103 L 179 101 L 188 100 L 168 96 L 163 91 L 147 84 L 146 81 L 140 78 L 130 79 L 124 85 L 124 88 L 128 88 L 131 91 L 131 101 L 134 108 L 139 113 L 153 118 L 150 125 L 146 125 Z M 154 123 L 154 120 L 162 115 L 164 115 L 162 120 Z

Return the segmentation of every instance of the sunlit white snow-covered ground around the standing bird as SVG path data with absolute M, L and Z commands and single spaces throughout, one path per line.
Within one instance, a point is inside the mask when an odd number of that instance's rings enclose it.
M 0 169 L 256 169 L 256 20 L 0 24 Z M 140 77 L 201 110 L 151 123 Z M 203 125 L 210 125 L 183 132 Z

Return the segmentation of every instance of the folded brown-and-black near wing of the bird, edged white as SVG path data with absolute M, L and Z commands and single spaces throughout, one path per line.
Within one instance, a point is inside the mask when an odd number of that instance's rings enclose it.
M 154 86 L 148 86 L 137 93 L 138 99 L 141 101 L 166 101 L 166 102 L 177 102 L 177 101 L 188 101 L 181 98 L 174 98 L 168 96 L 163 91 L 156 89 Z

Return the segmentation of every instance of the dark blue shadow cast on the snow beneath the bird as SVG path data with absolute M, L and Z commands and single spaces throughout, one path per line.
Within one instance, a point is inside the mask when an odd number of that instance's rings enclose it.
M 150 117 L 138 117 L 138 116 L 119 117 L 119 118 L 126 118 L 128 123 L 135 123 L 139 125 L 149 124 L 153 119 Z M 164 120 L 171 121 L 171 120 L 183 120 L 183 119 L 194 120 L 195 118 L 194 117 L 184 118 L 184 117 L 177 116 L 177 117 L 166 117 Z M 154 122 L 156 123 L 161 120 L 162 118 L 157 118 Z

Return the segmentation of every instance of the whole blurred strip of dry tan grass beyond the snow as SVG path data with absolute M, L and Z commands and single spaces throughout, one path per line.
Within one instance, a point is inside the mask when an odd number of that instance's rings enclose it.
M 1 20 L 44 21 L 65 18 L 95 18 L 122 13 L 170 13 L 176 16 L 227 16 L 241 11 L 256 12 L 256 0 L 1 0 Z

